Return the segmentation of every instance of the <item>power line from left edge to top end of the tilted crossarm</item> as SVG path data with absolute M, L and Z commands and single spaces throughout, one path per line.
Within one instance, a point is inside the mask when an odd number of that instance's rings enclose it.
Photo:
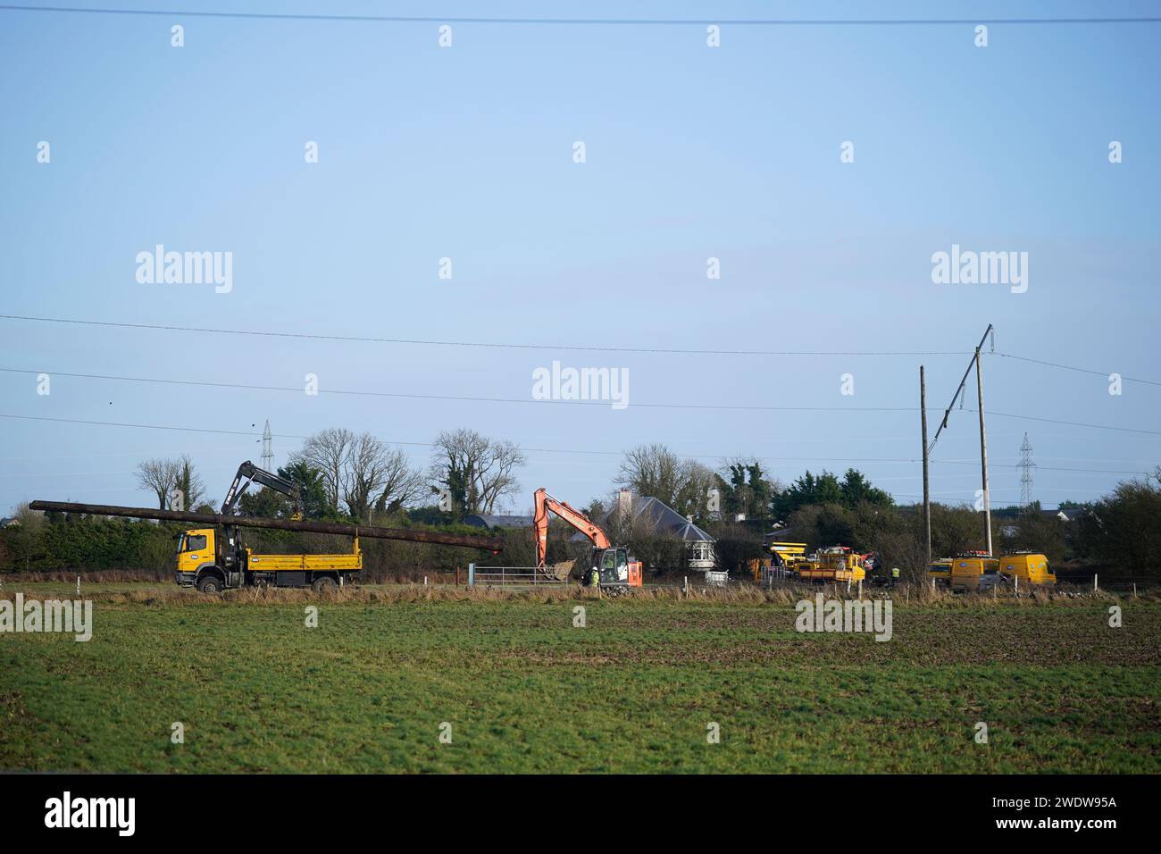
M 281 332 L 255 329 L 212 329 L 208 326 L 174 326 L 157 323 L 121 323 L 115 321 L 81 321 L 67 317 L 33 317 L 0 315 L 0 320 L 35 323 L 67 323 L 80 326 L 110 326 L 115 329 L 146 329 L 164 332 L 200 332 L 207 335 L 241 335 L 262 338 L 298 338 L 339 340 L 363 344 L 420 344 L 442 347 L 490 347 L 496 350 L 582 350 L 599 353 L 655 353 L 676 356 L 967 356 L 966 351 L 843 351 L 843 350 L 691 350 L 683 347 L 615 347 L 593 344 L 509 344 L 503 342 L 438 340 L 430 338 L 383 338 L 360 335 L 320 335 L 315 332 Z

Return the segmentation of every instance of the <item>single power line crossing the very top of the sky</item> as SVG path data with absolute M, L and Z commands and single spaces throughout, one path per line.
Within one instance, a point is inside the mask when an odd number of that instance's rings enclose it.
M 1158 23 L 1161 17 L 432 17 L 430 15 L 342 15 L 325 13 L 288 12 L 211 12 L 189 9 L 123 9 L 72 6 L 15 6 L 0 5 L 5 12 L 44 12 L 58 14 L 91 15 L 164 15 L 168 17 L 222 17 L 274 21 L 347 21 L 361 23 L 478 23 L 478 24 L 546 24 L 546 26 L 601 26 L 601 27 L 680 27 L 680 26 L 730 26 L 730 27 L 924 27 L 951 24 L 1110 24 L 1110 23 Z

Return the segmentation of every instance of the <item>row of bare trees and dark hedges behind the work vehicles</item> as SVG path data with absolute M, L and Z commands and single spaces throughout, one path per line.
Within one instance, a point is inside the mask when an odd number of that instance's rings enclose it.
M 305 439 L 277 474 L 298 487 L 307 518 L 450 529 L 462 525 L 466 516 L 500 512 L 519 501 L 524 491 L 518 475 L 526 461 L 524 452 L 512 442 L 460 429 L 440 432 L 426 466 L 418 466 L 403 451 L 369 433 L 331 428 Z M 218 509 L 210 503 L 205 485 L 188 455 L 145 460 L 137 467 L 137 479 L 160 508 L 175 509 L 178 501 L 181 509 L 210 512 Z M 887 491 L 854 468 L 842 474 L 807 471 L 783 485 L 756 458 L 738 457 L 711 467 L 699 459 L 677 454 L 664 444 L 646 444 L 622 454 L 608 494 L 591 501 L 585 511 L 592 518 L 600 518 L 616 507 L 620 490 L 626 489 L 654 496 L 707 530 L 716 539 L 717 559 L 724 569 L 744 570 L 750 559 L 762 554 L 763 533 L 776 528 L 785 531 L 784 539 L 805 541 L 812 548 L 841 544 L 873 551 L 882 564 L 900 566 L 915 577 L 921 577 L 925 569 L 921 508 L 897 505 Z M 1018 511 L 996 511 L 993 524 L 996 552 L 1027 548 L 1047 554 L 1055 565 L 1073 562 L 1126 575 L 1161 575 L 1158 550 L 1161 467 L 1142 479 L 1119 483 L 1096 502 L 1072 503 L 1072 507 L 1083 512 L 1070 522 L 1041 512 L 1038 504 Z M 244 494 L 239 509 L 245 515 L 262 517 L 286 517 L 291 511 L 286 496 L 267 488 Z M 59 514 L 42 517 L 23 508 L 17 521 L 20 524 L 0 532 L 0 569 L 117 568 L 132 566 L 135 561 L 160 566 L 172 558 L 176 530 L 149 526 L 171 538 L 165 546 L 147 531 L 107 531 L 98 536 L 86 529 L 85 545 L 81 532 L 45 532 L 44 523 L 51 528 L 52 523 L 77 519 Z M 510 565 L 512 560 L 525 561 L 526 566 L 531 562 L 531 548 L 525 548 L 531 541 L 524 544 L 528 532 L 510 533 L 512 548 L 502 560 Z M 570 533 L 554 526 L 550 559 L 561 558 L 568 550 L 565 541 Z M 675 551 L 672 544 L 647 545 L 644 534 L 619 533 L 628 538 L 623 545 L 642 551 L 656 546 L 652 548 L 656 565 L 672 562 L 666 557 Z M 254 536 L 262 540 L 264 547 L 290 551 L 302 547 L 301 534 Z M 969 507 L 932 505 L 933 557 L 983 547 L 980 514 Z M 373 551 L 385 555 L 383 569 L 390 574 L 403 566 L 416 568 L 413 555 L 425 550 L 417 551 L 410 544 L 388 544 Z M 473 559 L 460 550 L 441 554 L 450 557 L 445 560 L 433 552 L 425 559 L 440 566 L 448 561 L 450 566 L 466 565 Z

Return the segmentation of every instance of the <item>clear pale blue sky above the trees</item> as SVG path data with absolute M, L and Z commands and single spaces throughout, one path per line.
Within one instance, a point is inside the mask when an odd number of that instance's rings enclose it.
M 110 2 L 118 8 L 163 8 Z M 167 5 L 203 8 L 202 5 Z M 225 6 L 209 7 L 225 8 Z M 257 12 L 551 16 L 534 3 L 247 2 Z M 711 12 L 712 9 L 712 12 Z M 562 7 L 562 13 L 564 12 Z M 589 3 L 590 17 L 1132 16 L 1155 3 Z M 186 46 L 170 45 L 185 27 Z M 921 491 L 917 369 L 951 397 L 996 350 L 1161 381 L 1155 340 L 1161 23 L 756 27 L 453 24 L 0 10 L 2 314 L 457 342 L 641 349 L 954 351 L 741 357 L 295 340 L 0 320 L 0 512 L 149 503 L 134 468 L 189 453 L 211 495 L 326 426 L 402 444 L 442 429 L 528 448 L 513 502 L 606 495 L 618 453 L 662 442 L 783 481 L 853 465 Z M 1124 162 L 1108 160 L 1110 141 Z M 37 143 L 51 163 L 37 163 Z M 304 144 L 319 163 L 304 162 Z M 586 162 L 572 162 L 583 141 Z M 843 142 L 854 163 L 839 162 Z M 233 253 L 233 288 L 136 281 L 156 244 Z M 1029 288 L 936 285 L 958 243 L 1029 253 Z M 438 278 L 441 257 L 452 280 Z M 721 259 L 719 280 L 706 259 Z M 627 368 L 627 409 L 531 400 L 560 359 Z M 527 403 L 253 392 L 132 375 Z M 841 376 L 854 394 L 841 394 Z M 1161 389 L 989 354 L 993 504 L 1019 497 L 1027 431 L 1045 505 L 1161 462 Z M 974 385 L 972 387 L 974 392 Z M 635 403 L 830 407 L 815 412 Z M 972 399 L 968 406 L 974 408 Z M 1102 424 L 1098 430 L 1029 417 Z M 932 412 L 932 430 L 938 416 Z M 257 424 L 257 428 L 251 425 Z M 576 454 L 563 451 L 596 451 Z M 933 497 L 979 487 L 953 416 Z M 809 458 L 809 459 L 807 459 Z M 1080 468 L 1081 472 L 1053 471 Z

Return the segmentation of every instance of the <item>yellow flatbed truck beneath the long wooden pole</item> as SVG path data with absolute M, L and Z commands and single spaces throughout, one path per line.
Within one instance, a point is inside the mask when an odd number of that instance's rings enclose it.
M 175 581 L 202 593 L 230 587 L 310 587 L 336 590 L 362 569 L 359 537 L 349 554 L 254 554 L 233 525 L 195 528 L 181 536 Z

